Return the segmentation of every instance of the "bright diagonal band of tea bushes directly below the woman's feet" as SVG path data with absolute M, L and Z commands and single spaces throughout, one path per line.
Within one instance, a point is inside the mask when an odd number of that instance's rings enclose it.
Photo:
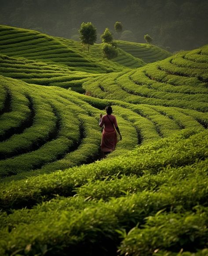
M 203 158 L 204 154 L 206 155 L 208 147 L 205 139 L 207 138 L 207 131 L 192 136 L 194 133 L 194 131 L 186 130 L 178 136 L 173 136 L 172 139 L 167 138 L 138 147 L 125 157 L 106 159 L 65 172 L 33 177 L 27 182 L 26 180 L 17 181 L 11 183 L 10 188 L 9 184 L 4 184 L 1 190 L 1 204 L 4 205 L 4 208 L 9 208 L 13 203 L 13 196 L 16 198 L 16 204 L 21 203 L 24 200 L 22 193 L 27 196 L 27 200 L 29 197 L 32 197 L 33 200 L 40 200 L 40 195 L 45 192 L 45 186 L 48 187 L 48 196 L 51 193 L 54 194 L 55 191 L 59 191 L 60 194 L 70 193 L 75 187 L 80 187 L 88 180 L 102 180 L 104 177 L 111 177 L 117 173 L 142 176 L 145 173 L 157 174 L 164 168 L 180 168 L 180 166 L 194 164 L 197 158 Z M 182 151 L 184 147 L 186 151 Z M 193 147 L 196 148 L 194 154 Z M 30 190 L 31 194 L 27 195 L 29 187 L 33 188 Z M 21 188 L 21 192 L 18 192 L 18 188 Z M 5 193 L 5 189 L 9 192 Z

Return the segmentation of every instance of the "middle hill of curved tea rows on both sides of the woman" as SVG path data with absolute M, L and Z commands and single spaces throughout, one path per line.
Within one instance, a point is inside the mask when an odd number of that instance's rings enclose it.
M 66 169 L 88 162 L 89 156 L 98 157 L 100 110 L 85 103 L 86 96 L 79 100 L 75 93 L 58 87 L 38 87 L 16 81 L 1 78 L 5 92 L 2 95 L 6 97 L 9 91 L 11 98 L 10 109 L 0 115 L 1 177 L 22 172 L 25 177 L 24 173 L 36 175 Z M 193 110 L 157 105 L 124 106 L 116 101 L 111 105 L 124 139 L 110 158 L 181 129 L 194 126 L 203 130 L 208 125 L 206 114 Z

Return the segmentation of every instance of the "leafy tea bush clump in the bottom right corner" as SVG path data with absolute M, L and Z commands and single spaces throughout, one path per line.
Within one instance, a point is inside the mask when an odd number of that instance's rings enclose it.
M 148 217 L 141 229 L 135 227 L 124 237 L 121 255 L 147 256 L 161 249 L 195 252 L 197 248 L 206 247 L 208 208 L 196 207 L 194 210 L 195 213 L 185 214 L 158 212 Z

